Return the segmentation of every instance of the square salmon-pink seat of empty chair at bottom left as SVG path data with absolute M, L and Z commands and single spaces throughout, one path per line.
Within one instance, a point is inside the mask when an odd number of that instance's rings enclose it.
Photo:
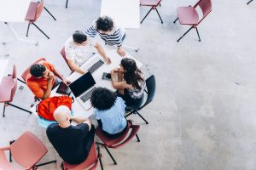
M 10 145 L 14 160 L 23 167 L 33 167 L 47 153 L 45 145 L 33 133 L 23 133 Z

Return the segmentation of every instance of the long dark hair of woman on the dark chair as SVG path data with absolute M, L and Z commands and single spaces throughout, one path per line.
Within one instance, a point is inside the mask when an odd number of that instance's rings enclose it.
M 121 65 L 124 67 L 124 79 L 125 82 L 131 84 L 137 89 L 141 89 L 138 82 L 143 82 L 142 71 L 137 68 L 134 59 L 124 58 L 121 60 Z

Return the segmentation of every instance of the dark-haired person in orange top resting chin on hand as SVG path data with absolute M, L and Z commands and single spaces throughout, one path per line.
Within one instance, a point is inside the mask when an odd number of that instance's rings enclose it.
M 61 76 L 55 70 L 55 66 L 48 61 L 42 60 L 30 67 L 29 73 L 26 75 L 26 85 L 31 89 L 32 93 L 39 99 L 49 98 L 50 91 L 55 88 L 56 77 L 59 77 L 64 83 L 70 81 Z

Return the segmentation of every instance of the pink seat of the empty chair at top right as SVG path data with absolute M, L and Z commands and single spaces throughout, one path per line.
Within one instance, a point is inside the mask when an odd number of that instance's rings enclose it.
M 199 16 L 194 7 L 178 7 L 177 18 L 181 25 L 197 26 Z

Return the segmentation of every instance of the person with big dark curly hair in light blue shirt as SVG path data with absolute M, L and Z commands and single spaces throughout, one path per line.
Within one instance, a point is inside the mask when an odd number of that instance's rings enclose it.
M 107 88 L 96 88 L 90 98 L 91 105 L 95 108 L 93 115 L 102 132 L 109 138 L 116 138 L 127 126 L 124 117 L 125 101 Z

